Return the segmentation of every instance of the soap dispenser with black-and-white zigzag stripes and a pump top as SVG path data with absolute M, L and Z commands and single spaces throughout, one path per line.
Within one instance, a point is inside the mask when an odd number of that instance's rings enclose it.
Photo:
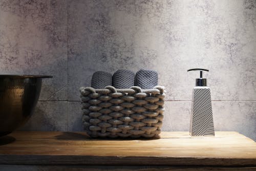
M 214 136 L 210 88 L 207 87 L 206 78 L 203 78 L 203 71 L 209 72 L 209 70 L 190 69 L 188 71 L 200 71 L 200 78 L 196 79 L 196 87 L 193 89 L 189 134 L 191 136 Z

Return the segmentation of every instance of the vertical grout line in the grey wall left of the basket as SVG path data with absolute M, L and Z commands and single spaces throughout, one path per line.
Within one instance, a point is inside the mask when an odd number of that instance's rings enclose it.
M 67 14 L 67 23 L 66 23 L 66 35 L 67 35 L 67 103 L 68 103 L 68 125 L 67 125 L 67 131 L 70 131 L 69 130 L 69 36 L 68 36 L 68 33 L 69 33 L 69 30 L 68 30 L 68 24 L 69 24 L 69 10 L 68 10 L 68 0 L 66 0 L 66 14 Z

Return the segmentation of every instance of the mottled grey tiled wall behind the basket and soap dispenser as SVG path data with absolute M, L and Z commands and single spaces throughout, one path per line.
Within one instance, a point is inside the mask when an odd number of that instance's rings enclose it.
M 0 0 L 1 74 L 47 74 L 21 130 L 82 131 L 78 88 L 95 71 L 159 72 L 163 131 L 188 131 L 198 73 L 217 131 L 256 140 L 256 1 Z

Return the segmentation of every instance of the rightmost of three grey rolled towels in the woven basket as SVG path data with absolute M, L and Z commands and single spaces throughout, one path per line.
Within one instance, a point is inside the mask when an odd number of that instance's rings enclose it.
M 158 73 L 155 70 L 140 69 L 135 76 L 134 85 L 141 89 L 153 89 L 158 84 Z

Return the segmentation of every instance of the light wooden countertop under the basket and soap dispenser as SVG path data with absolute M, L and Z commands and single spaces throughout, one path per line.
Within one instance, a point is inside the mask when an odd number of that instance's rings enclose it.
M 256 170 L 256 143 L 237 132 L 206 138 L 162 132 L 150 140 L 90 139 L 82 132 L 14 132 L 0 138 L 0 170 L 209 168 Z

